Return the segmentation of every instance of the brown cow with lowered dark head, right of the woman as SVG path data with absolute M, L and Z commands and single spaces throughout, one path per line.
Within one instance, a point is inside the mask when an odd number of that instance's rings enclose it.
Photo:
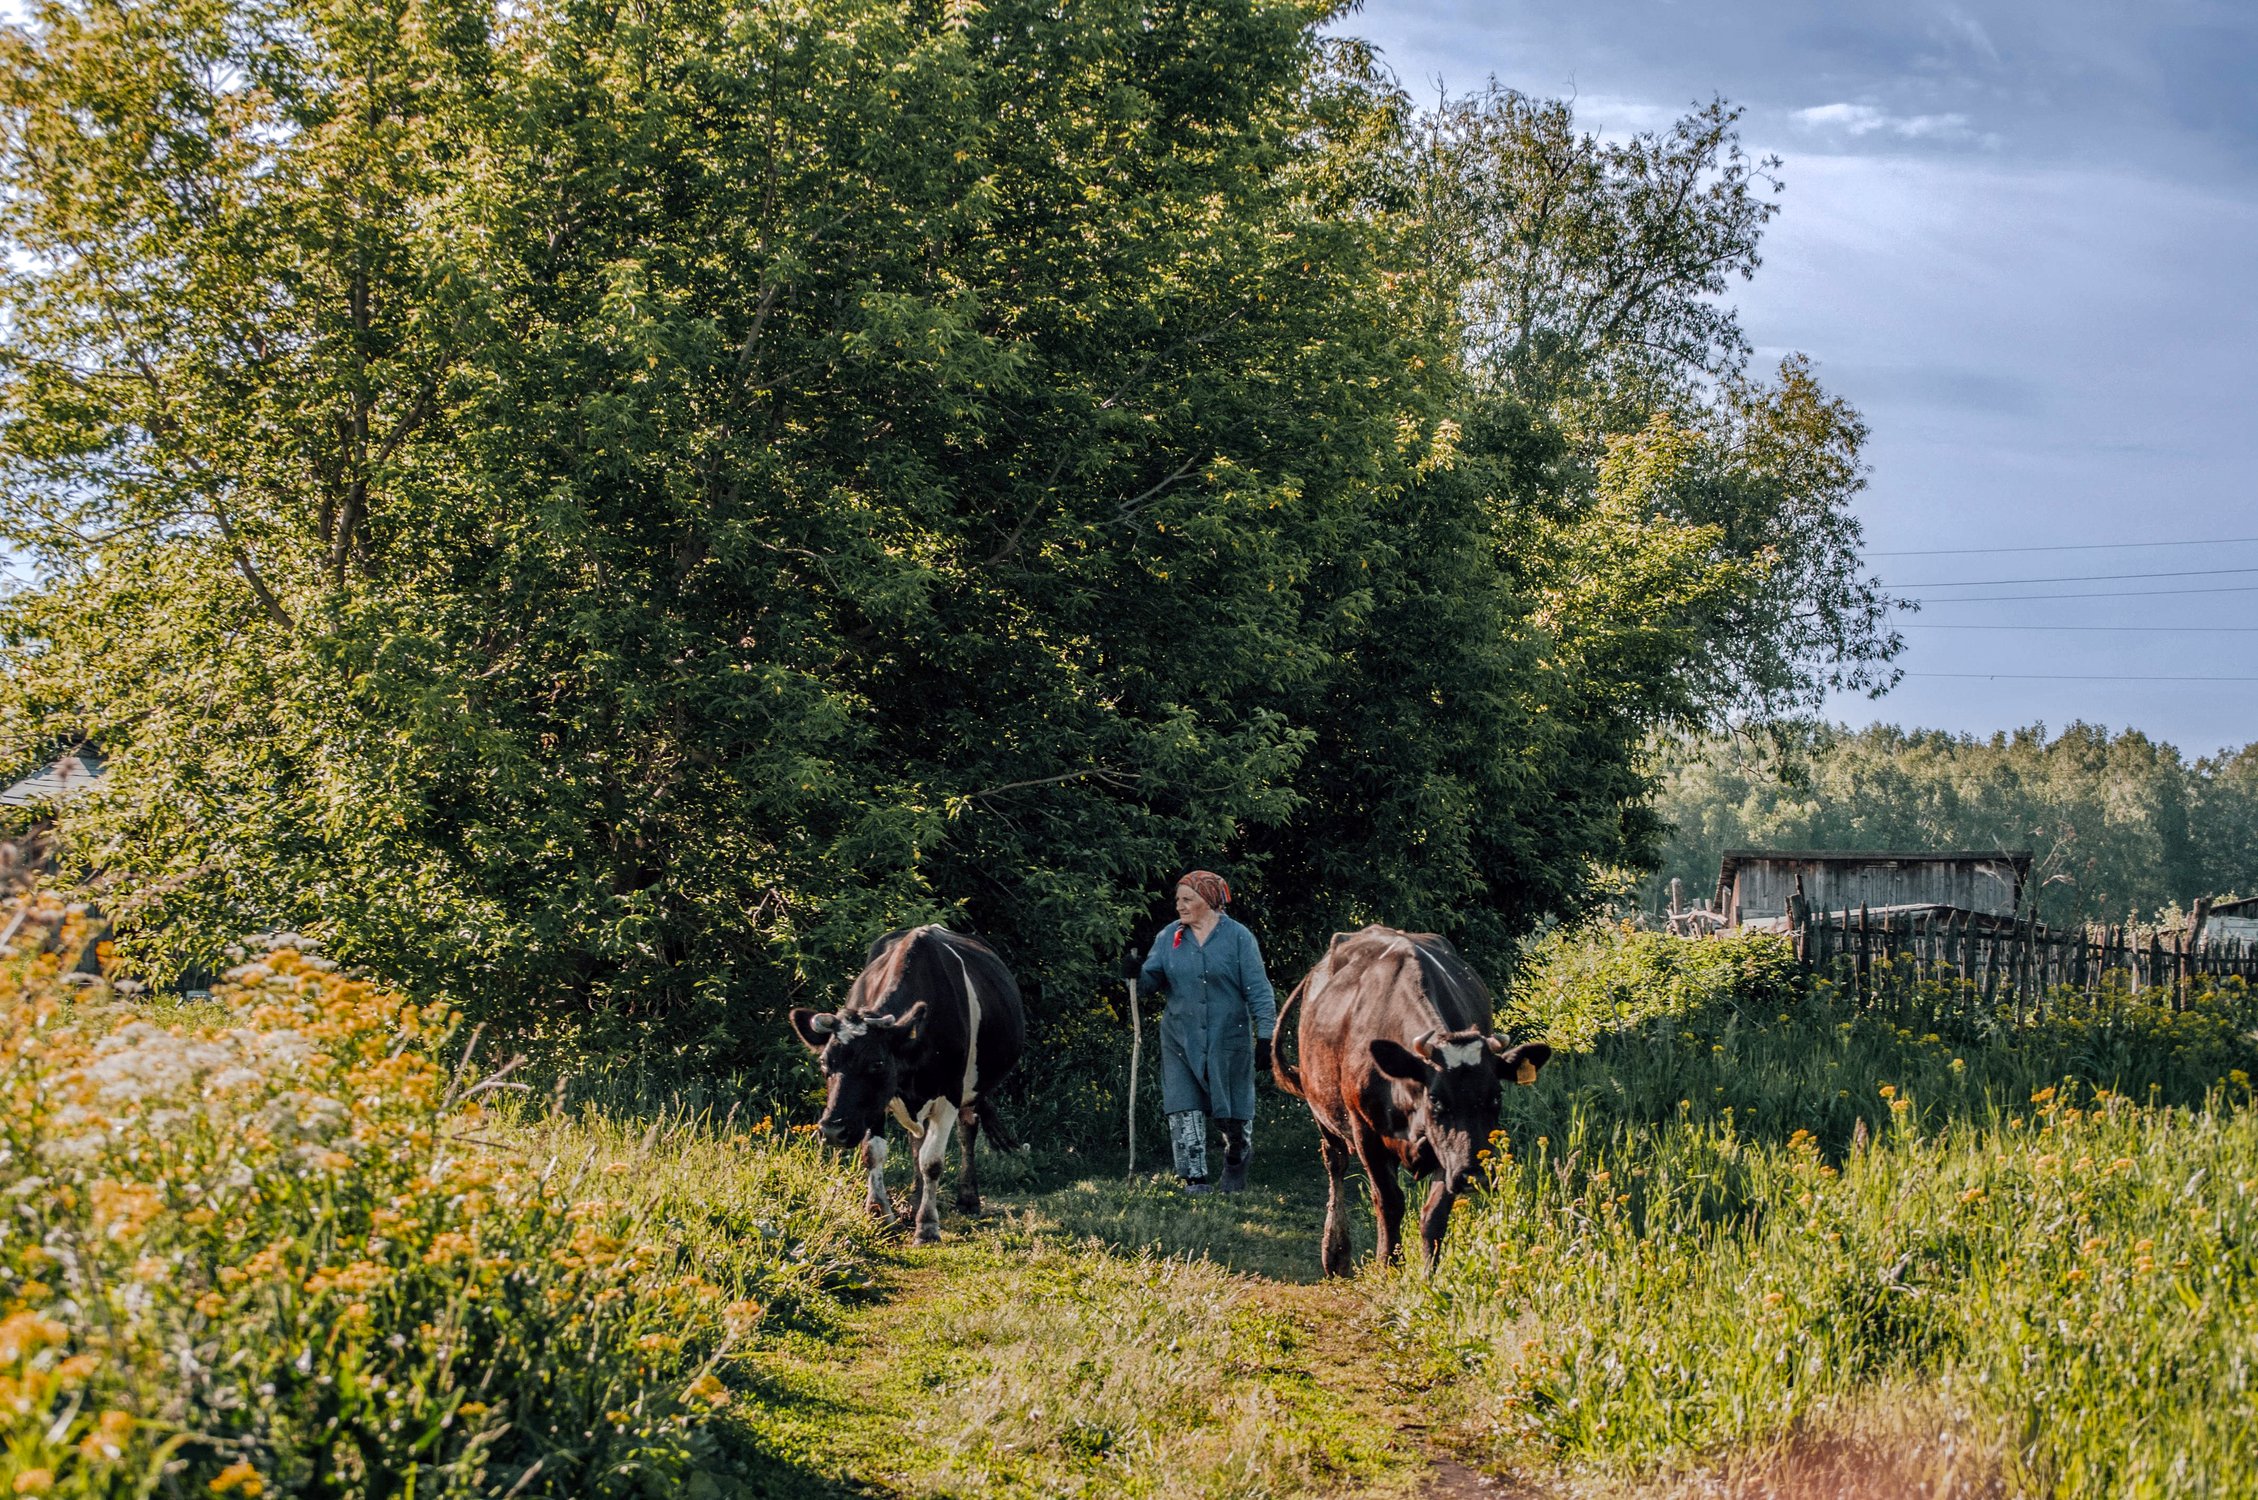
M 1285 1062 L 1287 1012 L 1301 1003 L 1298 1066 Z M 1323 1136 L 1325 1274 L 1348 1274 L 1344 1193 L 1350 1154 L 1373 1184 L 1380 1256 L 1400 1256 L 1402 1166 L 1434 1177 L 1420 1213 L 1429 1270 L 1443 1254 L 1450 1206 L 1479 1175 L 1497 1130 L 1499 1080 L 1535 1082 L 1542 1041 L 1513 1046 L 1490 1032 L 1490 992 L 1434 933 L 1366 926 L 1337 933 L 1325 958 L 1278 1012 L 1271 1075 L 1305 1100 Z

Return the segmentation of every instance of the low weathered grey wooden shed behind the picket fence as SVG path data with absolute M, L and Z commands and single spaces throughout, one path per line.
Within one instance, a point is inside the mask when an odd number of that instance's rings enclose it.
M 1811 910 L 1933 906 L 2012 917 L 2030 849 L 1725 849 L 1716 910 L 1727 924 L 1786 917 L 1802 881 Z

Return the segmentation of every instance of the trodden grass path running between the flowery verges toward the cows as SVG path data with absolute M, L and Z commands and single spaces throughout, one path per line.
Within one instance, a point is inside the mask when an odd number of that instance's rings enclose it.
M 1373 1283 L 1314 1274 L 1321 1215 L 1292 1127 L 1237 1197 L 1005 1163 L 982 1220 L 948 1215 L 838 1328 L 763 1349 L 765 1493 L 1515 1493 L 1436 1450 Z

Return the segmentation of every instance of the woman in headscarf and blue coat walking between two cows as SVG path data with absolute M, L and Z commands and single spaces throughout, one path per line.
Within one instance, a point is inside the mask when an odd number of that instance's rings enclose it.
M 1208 1116 L 1224 1132 L 1224 1193 L 1246 1186 L 1255 1069 L 1269 1066 L 1278 998 L 1255 935 L 1224 915 L 1231 886 L 1213 870 L 1176 881 L 1176 919 L 1161 928 L 1140 980 L 1167 989 L 1161 1014 L 1161 1107 L 1185 1193 L 1208 1191 Z

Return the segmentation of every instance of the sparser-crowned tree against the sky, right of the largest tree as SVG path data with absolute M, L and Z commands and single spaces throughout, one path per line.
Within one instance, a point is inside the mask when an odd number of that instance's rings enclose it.
M 1725 294 L 1777 163 L 1734 113 L 1608 142 L 1488 88 L 1395 120 L 1355 181 L 1407 316 L 1445 330 L 1447 454 L 1328 662 L 1298 779 L 1325 816 L 1262 840 L 1294 910 L 1495 965 L 1653 863 L 1657 732 L 1883 689 L 1899 639 L 1858 558 L 1858 413 L 1802 357 L 1748 373 Z

